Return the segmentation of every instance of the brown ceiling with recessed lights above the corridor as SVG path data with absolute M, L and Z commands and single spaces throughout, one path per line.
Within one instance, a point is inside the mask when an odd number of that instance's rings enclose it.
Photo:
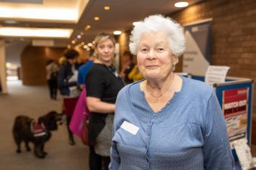
M 73 29 L 70 38 L 47 40 L 54 41 L 53 46 L 72 45 L 71 41 L 74 39 L 74 45 L 81 42 L 87 44 L 101 32 L 113 34 L 115 30 L 130 30 L 134 21 L 140 21 L 150 14 L 164 15 L 178 11 L 180 9 L 174 6 L 177 1 L 179 0 L 0 0 L 0 28 L 15 26 Z M 202 0 L 186 1 L 191 5 Z M 110 10 L 104 10 L 104 6 L 110 6 Z M 12 11 L 5 12 L 4 8 Z M 51 14 L 52 11 L 54 14 Z M 37 16 L 37 13 L 44 17 Z M 95 21 L 95 16 L 100 17 L 100 20 Z M 86 25 L 91 28 L 85 30 Z M 77 39 L 79 34 L 82 37 Z M 0 39 L 8 44 L 39 38 L 0 36 Z

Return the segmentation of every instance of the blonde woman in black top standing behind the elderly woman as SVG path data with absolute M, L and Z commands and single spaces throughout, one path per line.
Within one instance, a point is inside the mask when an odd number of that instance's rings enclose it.
M 95 38 L 97 58 L 87 74 L 87 107 L 90 111 L 89 166 L 92 170 L 108 169 L 113 131 L 115 100 L 123 88 L 123 80 L 115 71 L 115 39 L 110 34 L 100 34 Z

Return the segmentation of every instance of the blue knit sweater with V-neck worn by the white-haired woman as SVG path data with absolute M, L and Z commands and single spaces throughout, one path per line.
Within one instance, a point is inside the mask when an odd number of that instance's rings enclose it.
M 234 169 L 226 124 L 211 87 L 182 77 L 181 91 L 155 113 L 140 84 L 118 94 L 110 169 Z M 124 121 L 138 132 L 120 128 Z

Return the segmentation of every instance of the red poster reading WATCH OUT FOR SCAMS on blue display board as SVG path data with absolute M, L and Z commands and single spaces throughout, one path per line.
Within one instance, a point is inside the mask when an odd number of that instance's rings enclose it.
M 246 137 L 249 88 L 223 91 L 222 112 L 229 141 Z

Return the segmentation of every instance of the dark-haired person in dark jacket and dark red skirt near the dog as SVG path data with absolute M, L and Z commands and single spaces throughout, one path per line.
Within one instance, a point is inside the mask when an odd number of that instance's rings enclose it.
M 58 86 L 60 93 L 64 98 L 65 114 L 67 116 L 67 130 L 69 134 L 69 144 L 74 145 L 74 137 L 69 129 L 70 120 L 75 110 L 78 96 L 80 95 L 80 89 L 77 86 L 77 69 L 76 64 L 79 53 L 75 49 L 67 49 L 64 52 L 64 56 L 67 61 L 60 65 L 60 71 L 58 74 Z

